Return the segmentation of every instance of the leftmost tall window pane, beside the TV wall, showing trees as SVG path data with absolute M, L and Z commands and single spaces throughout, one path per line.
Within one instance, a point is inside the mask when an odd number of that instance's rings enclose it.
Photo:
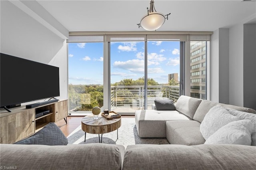
M 68 108 L 91 113 L 103 106 L 103 43 L 68 43 Z

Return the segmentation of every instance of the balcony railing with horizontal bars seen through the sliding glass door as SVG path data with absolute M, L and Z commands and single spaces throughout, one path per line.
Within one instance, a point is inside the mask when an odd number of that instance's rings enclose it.
M 174 102 L 180 96 L 179 86 L 148 86 L 147 105 L 151 108 L 155 99 L 172 99 Z M 144 108 L 144 86 L 111 86 L 111 110 L 130 107 Z

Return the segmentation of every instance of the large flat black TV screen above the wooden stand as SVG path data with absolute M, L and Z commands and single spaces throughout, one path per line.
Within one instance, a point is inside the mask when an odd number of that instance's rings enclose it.
M 60 96 L 59 68 L 0 53 L 1 107 Z

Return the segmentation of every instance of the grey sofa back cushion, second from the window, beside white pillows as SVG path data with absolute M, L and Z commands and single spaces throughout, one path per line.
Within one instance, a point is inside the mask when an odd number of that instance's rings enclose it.
M 204 120 L 206 113 L 208 113 L 208 111 L 216 105 L 218 105 L 218 103 L 209 100 L 202 100 L 202 102 L 196 109 L 196 113 L 193 117 L 193 120 L 201 123 Z

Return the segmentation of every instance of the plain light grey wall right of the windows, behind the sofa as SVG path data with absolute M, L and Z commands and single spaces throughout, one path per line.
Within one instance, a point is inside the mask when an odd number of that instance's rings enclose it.
M 256 24 L 246 22 L 212 34 L 210 100 L 255 109 Z

